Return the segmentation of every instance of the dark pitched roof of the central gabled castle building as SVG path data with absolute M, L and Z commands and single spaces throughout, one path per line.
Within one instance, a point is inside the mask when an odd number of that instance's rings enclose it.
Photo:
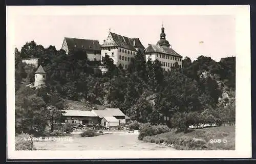
M 103 43 L 102 47 L 120 46 L 121 48 L 129 49 L 132 51 L 137 51 L 136 48 L 144 49 L 144 46 L 141 44 L 139 38 L 129 38 L 129 37 L 118 35 L 118 34 L 115 34 L 112 32 L 110 32 L 110 34 L 111 34 L 114 42 Z M 135 40 L 135 45 L 134 45 L 134 40 Z

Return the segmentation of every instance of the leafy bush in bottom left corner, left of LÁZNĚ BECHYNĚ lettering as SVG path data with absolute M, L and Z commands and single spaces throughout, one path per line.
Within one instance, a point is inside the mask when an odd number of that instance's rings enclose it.
M 15 136 L 15 150 L 36 150 L 32 140 L 25 140 L 25 138 L 28 139 L 29 137 L 32 136 L 28 134 L 19 134 Z

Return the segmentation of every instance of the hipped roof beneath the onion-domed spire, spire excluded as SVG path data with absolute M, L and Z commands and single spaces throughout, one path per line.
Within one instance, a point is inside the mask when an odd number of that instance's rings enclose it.
M 158 45 L 153 45 L 150 44 L 148 47 L 145 49 L 145 53 L 162 53 L 162 54 L 168 54 L 168 55 L 173 55 L 177 57 L 182 57 L 179 55 L 177 52 L 175 52 L 172 48 L 167 48 L 164 46 L 158 46 Z

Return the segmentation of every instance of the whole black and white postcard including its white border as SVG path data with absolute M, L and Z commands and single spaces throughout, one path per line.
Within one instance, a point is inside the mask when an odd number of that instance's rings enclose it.
M 249 14 L 7 7 L 10 156 L 250 157 Z

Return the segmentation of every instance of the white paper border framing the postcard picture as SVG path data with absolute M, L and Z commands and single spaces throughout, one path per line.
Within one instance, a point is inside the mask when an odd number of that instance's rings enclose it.
M 15 151 L 14 20 L 16 15 L 236 15 L 236 150 L 234 151 Z M 249 5 L 212 6 L 7 6 L 7 158 L 248 158 L 251 157 Z

